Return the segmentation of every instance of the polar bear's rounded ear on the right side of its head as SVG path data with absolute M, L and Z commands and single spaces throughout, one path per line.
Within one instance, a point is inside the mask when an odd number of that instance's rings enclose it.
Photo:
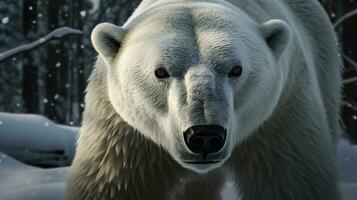
M 260 25 L 260 30 L 273 54 L 279 59 L 291 39 L 289 25 L 282 20 L 272 19 Z

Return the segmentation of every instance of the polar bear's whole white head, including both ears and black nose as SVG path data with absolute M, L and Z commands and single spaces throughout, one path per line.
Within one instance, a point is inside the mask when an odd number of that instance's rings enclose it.
M 183 167 L 217 168 L 273 112 L 290 31 L 208 3 L 149 9 L 127 27 L 98 25 L 117 113 Z

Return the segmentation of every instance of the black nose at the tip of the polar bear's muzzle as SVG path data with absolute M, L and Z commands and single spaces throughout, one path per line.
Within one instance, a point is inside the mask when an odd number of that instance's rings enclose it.
M 183 134 L 187 147 L 205 158 L 207 154 L 217 153 L 223 148 L 226 132 L 222 126 L 199 125 L 190 127 Z

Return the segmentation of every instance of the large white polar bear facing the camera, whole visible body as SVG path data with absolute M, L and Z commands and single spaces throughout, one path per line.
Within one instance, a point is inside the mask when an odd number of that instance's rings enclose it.
M 338 200 L 341 60 L 315 0 L 143 0 L 99 57 L 70 200 Z

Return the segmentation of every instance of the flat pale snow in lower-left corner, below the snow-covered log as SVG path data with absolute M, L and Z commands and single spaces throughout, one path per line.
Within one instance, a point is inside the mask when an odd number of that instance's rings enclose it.
M 0 153 L 0 200 L 63 200 L 68 168 L 40 169 Z

